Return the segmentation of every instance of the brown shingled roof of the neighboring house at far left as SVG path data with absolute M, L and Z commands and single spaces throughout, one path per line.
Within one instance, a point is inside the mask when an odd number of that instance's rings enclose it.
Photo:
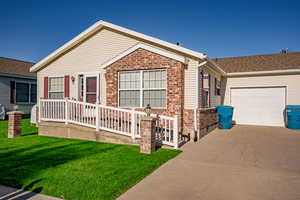
M 5 76 L 23 76 L 23 78 L 36 77 L 36 73 L 29 71 L 33 65 L 33 62 L 0 57 L 0 74 Z

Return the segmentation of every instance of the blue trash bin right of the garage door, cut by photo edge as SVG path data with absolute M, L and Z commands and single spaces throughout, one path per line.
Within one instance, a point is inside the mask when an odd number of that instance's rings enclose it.
M 287 105 L 287 127 L 289 129 L 300 129 L 300 105 Z

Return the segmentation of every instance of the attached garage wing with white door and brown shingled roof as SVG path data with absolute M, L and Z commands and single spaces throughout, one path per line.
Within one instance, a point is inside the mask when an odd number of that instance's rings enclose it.
M 237 124 L 284 126 L 286 105 L 300 104 L 300 52 L 217 58 L 226 72 L 222 100 Z

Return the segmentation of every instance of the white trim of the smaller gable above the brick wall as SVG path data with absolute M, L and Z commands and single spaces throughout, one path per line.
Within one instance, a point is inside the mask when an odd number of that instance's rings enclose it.
M 175 54 L 175 53 L 163 50 L 163 49 L 159 49 L 157 47 L 150 46 L 150 45 L 147 45 L 147 44 L 144 44 L 144 43 L 138 43 L 137 45 L 125 50 L 124 52 L 122 52 L 121 54 L 115 56 L 114 58 L 102 63 L 101 67 L 106 68 L 109 65 L 113 64 L 114 62 L 118 61 L 119 59 L 123 58 L 124 56 L 127 56 L 128 54 L 134 52 L 137 49 L 145 49 L 145 50 L 157 53 L 159 55 L 162 55 L 162 56 L 165 56 L 165 57 L 168 57 L 168 58 L 172 58 L 174 60 L 178 60 L 178 61 L 183 62 L 183 63 L 185 62 L 185 58 L 183 56 L 180 56 L 178 54 Z

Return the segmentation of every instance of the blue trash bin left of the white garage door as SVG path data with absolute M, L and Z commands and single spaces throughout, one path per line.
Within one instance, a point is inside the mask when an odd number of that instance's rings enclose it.
M 231 129 L 232 128 L 232 115 L 233 107 L 232 106 L 216 106 L 217 112 L 219 115 L 219 124 L 222 129 Z

